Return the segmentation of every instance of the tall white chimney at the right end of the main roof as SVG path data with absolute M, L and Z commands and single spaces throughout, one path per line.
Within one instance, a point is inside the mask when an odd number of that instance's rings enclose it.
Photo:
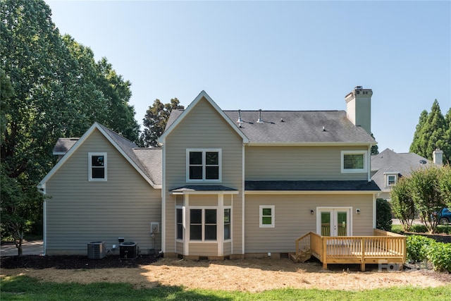
M 371 95 L 373 90 L 364 89 L 362 86 L 354 87 L 354 90 L 345 96 L 346 116 L 354 123 L 366 130 L 371 135 Z

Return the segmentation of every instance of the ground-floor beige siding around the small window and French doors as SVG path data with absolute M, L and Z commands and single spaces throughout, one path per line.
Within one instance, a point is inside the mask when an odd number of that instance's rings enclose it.
M 275 206 L 274 228 L 259 227 L 260 205 Z M 352 207 L 352 235 L 373 234 L 372 195 L 246 195 L 245 252 L 295 252 L 297 238 L 316 233 L 316 207 Z

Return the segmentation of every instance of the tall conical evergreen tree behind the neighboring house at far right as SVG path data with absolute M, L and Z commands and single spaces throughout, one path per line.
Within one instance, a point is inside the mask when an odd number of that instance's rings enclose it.
M 450 140 L 447 137 L 449 128 L 450 125 L 445 122 L 438 101 L 435 99 L 430 113 L 426 110 L 421 112 L 419 123 L 416 125 L 414 140 L 410 145 L 410 152 L 427 159 L 433 159 L 433 151 L 442 149 L 443 160 L 446 162 L 451 156 Z

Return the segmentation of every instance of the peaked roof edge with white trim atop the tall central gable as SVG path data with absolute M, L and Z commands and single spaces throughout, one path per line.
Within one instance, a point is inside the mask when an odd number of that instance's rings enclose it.
M 206 92 L 202 90 L 202 92 L 200 92 L 199 95 L 197 95 L 197 97 L 192 101 L 192 103 L 187 107 L 187 109 L 171 111 L 171 116 L 173 115 L 173 112 L 174 116 L 173 118 L 171 118 L 170 116 L 170 118 L 168 119 L 168 123 L 166 123 L 166 130 L 164 131 L 163 135 L 161 135 L 157 140 L 161 145 L 164 144 L 166 136 L 168 136 L 174 130 L 174 128 L 176 128 L 177 125 L 181 121 L 183 121 L 185 116 L 187 116 L 190 113 L 190 111 L 192 111 L 192 109 L 197 105 L 197 103 L 200 102 L 202 99 L 206 99 L 206 101 L 209 102 L 209 104 L 211 104 L 211 106 L 214 107 L 214 109 L 219 113 L 219 115 L 221 115 L 224 118 L 224 120 L 230 125 L 230 127 L 233 130 L 235 130 L 235 132 L 238 135 L 240 135 L 240 137 L 242 137 L 244 143 L 249 142 L 249 139 L 246 137 L 246 135 L 237 128 L 235 123 L 233 123 L 233 121 L 231 121 L 230 118 L 228 118 L 228 116 L 221 110 L 221 108 L 216 104 L 216 102 L 214 102 L 213 99 L 209 97 L 209 94 L 206 94 Z M 169 121 L 171 121 L 171 123 Z

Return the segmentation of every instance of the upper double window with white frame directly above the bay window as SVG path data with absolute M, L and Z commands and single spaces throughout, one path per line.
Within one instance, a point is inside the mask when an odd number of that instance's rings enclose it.
M 187 182 L 221 182 L 221 149 L 187 149 Z

